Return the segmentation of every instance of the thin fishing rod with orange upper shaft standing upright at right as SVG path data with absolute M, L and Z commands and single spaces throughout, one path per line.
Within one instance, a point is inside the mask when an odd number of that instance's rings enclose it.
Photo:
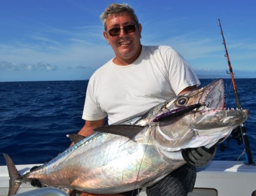
M 220 24 L 220 28 L 221 28 L 221 20 L 220 19 L 218 19 L 218 20 L 219 20 L 219 24 Z M 222 44 L 225 46 L 225 51 L 226 51 L 225 57 L 227 57 L 229 73 L 230 73 L 232 84 L 233 84 L 234 98 L 236 99 L 237 108 L 239 110 L 241 110 L 242 107 L 241 107 L 240 99 L 239 99 L 238 92 L 237 92 L 237 85 L 236 85 L 236 82 L 234 81 L 234 75 L 233 75 L 231 63 L 230 63 L 230 60 L 229 60 L 229 56 L 228 56 L 228 52 L 227 52 L 227 46 L 226 46 L 226 42 L 225 42 L 225 38 L 224 38 L 224 35 L 223 35 L 222 28 L 221 28 L 221 35 L 222 35 L 222 38 L 223 38 L 223 43 Z M 247 137 L 245 123 L 240 124 L 240 130 L 241 130 L 241 134 L 242 134 L 242 139 L 244 141 L 246 164 L 251 165 L 253 163 L 253 160 L 252 160 L 252 156 L 251 156 L 251 150 L 250 150 L 250 146 L 249 146 L 249 140 L 248 140 L 248 137 Z

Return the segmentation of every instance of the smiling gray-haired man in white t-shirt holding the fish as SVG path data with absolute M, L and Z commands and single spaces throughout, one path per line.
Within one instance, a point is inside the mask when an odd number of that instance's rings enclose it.
M 112 124 L 200 84 L 193 70 L 173 48 L 141 45 L 142 26 L 131 7 L 111 4 L 100 17 L 103 35 L 115 57 L 90 78 L 82 116 L 86 122 L 79 135 L 93 134 L 94 128 L 104 125 L 106 117 Z M 216 147 L 183 151 L 188 164 L 148 187 L 147 194 L 187 195 L 195 184 L 195 166 L 210 161 L 215 151 Z M 132 195 L 132 192 L 121 195 Z

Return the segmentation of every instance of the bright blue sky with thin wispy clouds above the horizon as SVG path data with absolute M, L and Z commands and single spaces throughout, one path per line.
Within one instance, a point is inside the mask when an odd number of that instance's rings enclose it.
M 135 9 L 143 45 L 174 47 L 202 75 L 256 75 L 256 1 L 114 1 Z M 0 0 L 0 81 L 83 80 L 114 56 L 99 15 L 113 1 Z

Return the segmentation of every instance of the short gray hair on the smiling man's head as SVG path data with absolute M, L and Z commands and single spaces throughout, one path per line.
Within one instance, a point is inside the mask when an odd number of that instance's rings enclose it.
M 131 14 L 131 16 L 134 18 L 134 20 L 136 21 L 136 23 L 139 23 L 139 20 L 136 16 L 136 14 L 134 13 L 134 9 L 132 7 L 130 7 L 127 4 L 110 4 L 105 11 L 100 15 L 100 19 L 103 23 L 104 29 L 106 30 L 106 19 L 108 19 L 109 16 L 111 15 L 117 15 L 120 14 L 121 12 L 128 12 L 129 14 Z

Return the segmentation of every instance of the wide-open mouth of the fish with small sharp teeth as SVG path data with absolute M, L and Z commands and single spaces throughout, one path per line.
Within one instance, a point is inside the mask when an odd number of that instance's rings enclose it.
M 195 123 L 191 125 L 197 129 L 237 126 L 249 116 L 248 110 L 226 110 L 223 79 L 217 79 L 205 86 L 199 103 L 202 107 L 196 109 Z

